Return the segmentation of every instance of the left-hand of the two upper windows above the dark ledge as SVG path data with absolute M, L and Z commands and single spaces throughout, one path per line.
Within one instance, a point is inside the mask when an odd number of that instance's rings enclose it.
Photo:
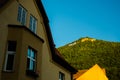
M 27 11 L 21 5 L 19 5 L 18 6 L 18 17 L 17 17 L 17 20 L 22 25 L 26 24 L 26 15 L 27 15 Z

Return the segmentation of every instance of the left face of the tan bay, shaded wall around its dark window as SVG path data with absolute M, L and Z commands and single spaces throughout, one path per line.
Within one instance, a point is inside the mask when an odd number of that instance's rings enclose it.
M 8 26 L 7 26 L 8 28 Z M 22 42 L 22 30 L 11 30 L 8 28 L 8 36 L 7 36 L 7 42 L 8 41 L 16 41 L 16 54 L 14 57 L 14 64 L 13 64 L 13 71 L 12 72 L 2 72 L 2 80 L 16 80 L 18 78 L 18 70 L 20 65 L 20 54 L 21 54 L 21 42 Z M 7 43 L 6 43 L 7 44 Z M 7 47 L 5 47 L 7 49 Z M 7 50 L 6 50 L 7 51 Z M 4 54 L 6 55 L 6 53 Z M 5 59 L 4 59 L 5 64 Z M 7 76 L 7 77 L 6 77 Z

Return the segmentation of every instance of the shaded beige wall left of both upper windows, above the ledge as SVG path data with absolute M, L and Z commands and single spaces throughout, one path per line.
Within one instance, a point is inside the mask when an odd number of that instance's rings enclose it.
M 10 0 L 0 11 L 0 24 L 19 24 L 17 22 L 18 3 Z

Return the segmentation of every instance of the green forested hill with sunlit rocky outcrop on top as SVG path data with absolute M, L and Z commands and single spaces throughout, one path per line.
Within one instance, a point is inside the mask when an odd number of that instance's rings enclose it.
M 120 43 L 81 38 L 58 50 L 76 69 L 88 69 L 98 64 L 106 69 L 109 80 L 120 79 Z

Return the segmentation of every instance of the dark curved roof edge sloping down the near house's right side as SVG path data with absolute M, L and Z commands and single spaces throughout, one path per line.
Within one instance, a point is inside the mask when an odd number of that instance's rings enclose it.
M 48 37 L 48 41 L 49 41 L 49 45 L 50 45 L 50 50 L 52 53 L 52 59 L 60 64 L 61 66 L 63 66 L 65 69 L 69 70 L 71 73 L 76 73 L 77 70 L 75 68 L 73 68 L 70 64 L 68 64 L 68 62 L 66 62 L 58 53 L 58 51 L 56 51 L 55 49 L 55 44 L 52 38 L 52 34 L 51 34 L 51 30 L 50 30 L 50 26 L 49 26 L 49 20 L 48 17 L 46 15 L 45 9 L 43 7 L 43 4 L 41 2 L 41 0 L 36 0 L 37 6 L 43 16 L 43 21 L 44 21 L 44 25 L 45 25 L 45 29 L 47 32 L 47 37 Z M 58 55 L 59 54 L 59 55 Z

